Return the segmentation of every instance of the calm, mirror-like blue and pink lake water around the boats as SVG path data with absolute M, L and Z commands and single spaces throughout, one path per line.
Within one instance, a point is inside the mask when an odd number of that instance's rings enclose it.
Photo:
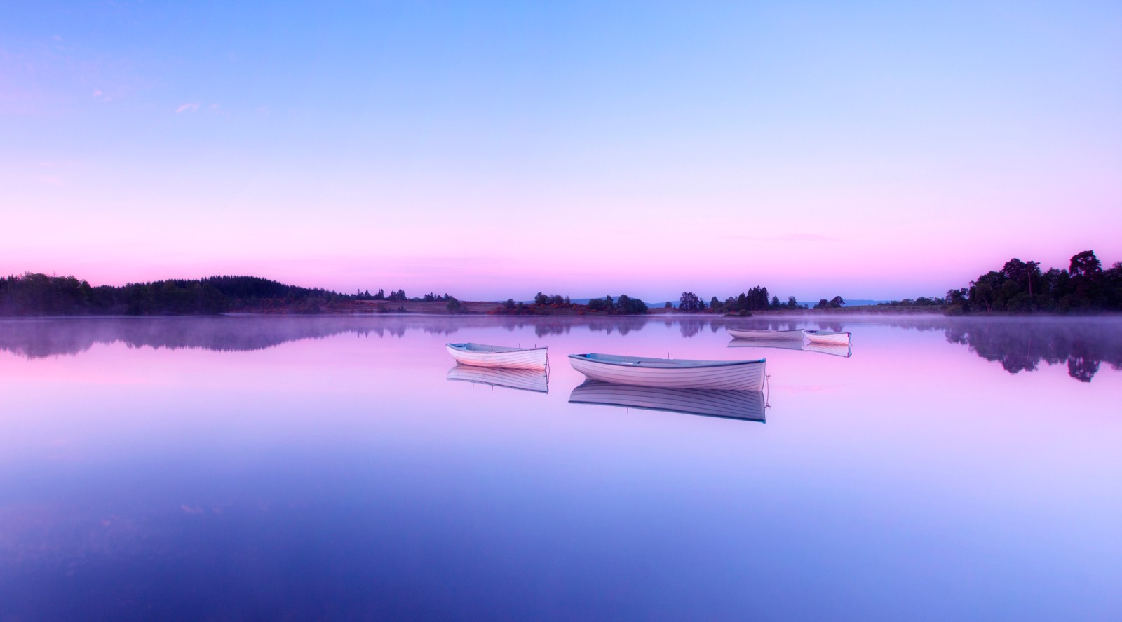
M 548 385 L 449 341 L 548 346 Z M 590 351 L 766 358 L 767 405 L 571 403 Z M 1120 586 L 1116 319 L 0 320 L 0 620 L 1116 621 Z

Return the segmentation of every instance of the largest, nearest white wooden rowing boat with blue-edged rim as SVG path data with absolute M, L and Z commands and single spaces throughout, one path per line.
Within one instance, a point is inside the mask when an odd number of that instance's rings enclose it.
M 610 354 L 571 354 L 572 368 L 590 379 L 670 388 L 762 391 L 765 359 L 689 360 Z

